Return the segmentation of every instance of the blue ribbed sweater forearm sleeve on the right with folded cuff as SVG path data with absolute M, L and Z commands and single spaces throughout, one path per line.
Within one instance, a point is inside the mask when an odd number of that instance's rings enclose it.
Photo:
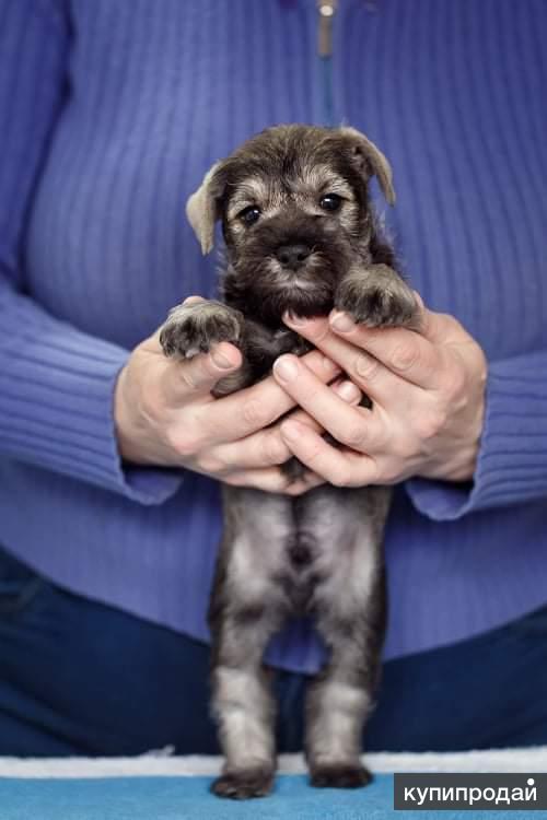
M 473 481 L 411 479 L 406 490 L 433 520 L 540 499 L 547 505 L 547 351 L 490 364 Z

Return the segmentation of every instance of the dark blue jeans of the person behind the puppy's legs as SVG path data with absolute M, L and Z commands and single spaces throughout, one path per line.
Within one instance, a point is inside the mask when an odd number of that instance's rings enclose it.
M 0 754 L 218 753 L 208 647 L 72 595 L 0 550 Z M 306 678 L 277 677 L 278 748 L 302 746 Z M 547 607 L 384 665 L 368 750 L 547 743 Z

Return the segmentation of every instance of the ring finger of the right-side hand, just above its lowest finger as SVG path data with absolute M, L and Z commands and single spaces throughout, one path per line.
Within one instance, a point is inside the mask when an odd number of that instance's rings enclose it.
M 366 453 L 375 453 L 385 444 L 387 427 L 383 414 L 347 405 L 295 356 L 280 356 L 274 365 L 274 375 L 283 389 L 341 444 Z

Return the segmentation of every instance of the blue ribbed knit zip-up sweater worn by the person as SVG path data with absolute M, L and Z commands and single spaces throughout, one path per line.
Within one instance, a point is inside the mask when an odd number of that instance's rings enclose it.
M 475 482 L 399 488 L 386 657 L 547 599 L 547 3 L 341 0 L 335 117 L 389 157 L 414 286 L 490 363 Z M 197 637 L 218 485 L 124 470 L 128 351 L 212 295 L 184 202 L 276 122 L 323 122 L 315 0 L 0 0 L 0 543 Z M 270 659 L 317 667 L 306 624 Z

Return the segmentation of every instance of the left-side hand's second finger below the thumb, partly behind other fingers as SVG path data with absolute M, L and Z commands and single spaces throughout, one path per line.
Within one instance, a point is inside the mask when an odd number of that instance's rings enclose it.
M 357 403 L 361 398 L 361 391 L 351 382 L 337 382 L 326 389 L 334 390 L 345 402 Z M 318 434 L 324 432 L 321 424 L 304 410 L 294 411 L 290 418 Z M 291 458 L 292 453 L 281 436 L 281 423 L 259 430 L 246 438 L 213 447 L 201 465 L 203 470 L 217 476 L 225 476 L 234 470 L 255 470 L 284 464 Z

